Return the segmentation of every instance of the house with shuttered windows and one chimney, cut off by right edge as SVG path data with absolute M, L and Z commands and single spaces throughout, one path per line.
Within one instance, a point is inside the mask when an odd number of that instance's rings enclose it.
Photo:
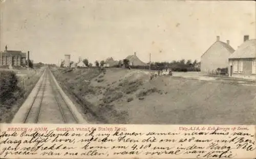
M 229 76 L 256 80 L 256 39 L 249 40 L 249 36 L 245 35 L 244 42 L 228 61 Z

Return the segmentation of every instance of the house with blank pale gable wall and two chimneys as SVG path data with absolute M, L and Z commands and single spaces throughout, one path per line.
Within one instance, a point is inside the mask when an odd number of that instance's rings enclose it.
M 234 49 L 227 42 L 220 41 L 220 36 L 201 56 L 201 72 L 211 73 L 218 68 L 228 67 L 228 58 L 234 52 Z

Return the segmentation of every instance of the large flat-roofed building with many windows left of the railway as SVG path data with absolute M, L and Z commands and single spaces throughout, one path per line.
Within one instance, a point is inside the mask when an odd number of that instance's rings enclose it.
M 26 53 L 6 46 L 4 52 L 0 51 L 0 66 L 26 66 Z

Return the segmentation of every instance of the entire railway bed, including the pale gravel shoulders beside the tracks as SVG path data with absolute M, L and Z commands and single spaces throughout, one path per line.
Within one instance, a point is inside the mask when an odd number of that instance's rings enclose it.
M 12 123 L 86 123 L 46 68 Z

